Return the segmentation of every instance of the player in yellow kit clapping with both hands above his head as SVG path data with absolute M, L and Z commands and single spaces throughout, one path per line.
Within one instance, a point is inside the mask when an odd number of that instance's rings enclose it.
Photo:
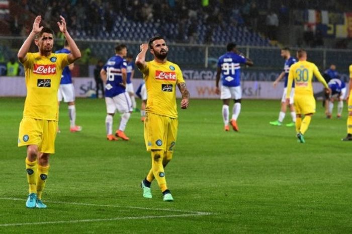
M 27 97 L 20 123 L 18 146 L 27 146 L 26 171 L 29 195 L 28 208 L 46 208 L 42 193 L 49 172 L 49 155 L 55 152 L 58 120 L 57 91 L 65 66 L 80 57 L 80 51 L 66 29 L 65 19 L 57 22 L 71 53 L 52 52 L 54 32 L 40 27 L 41 16 L 34 20 L 32 32 L 18 51 L 18 59 L 25 67 Z M 39 52 L 29 53 L 32 41 Z

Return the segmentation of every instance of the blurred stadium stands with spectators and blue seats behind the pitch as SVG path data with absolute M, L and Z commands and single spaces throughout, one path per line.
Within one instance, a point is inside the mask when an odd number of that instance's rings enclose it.
M 57 49 L 62 47 L 56 23 L 62 15 L 83 52 L 82 64 L 107 59 L 117 41 L 136 55 L 138 43 L 161 34 L 177 43 L 170 59 L 190 67 L 213 65 L 224 45 L 234 41 L 259 69 L 281 67 L 282 46 L 318 48 L 311 54 L 325 69 L 331 57 L 343 66 L 350 60 L 326 50 L 352 48 L 349 11 L 352 1 L 347 0 L 0 0 L 0 62 L 16 56 L 36 15 L 55 31 Z

